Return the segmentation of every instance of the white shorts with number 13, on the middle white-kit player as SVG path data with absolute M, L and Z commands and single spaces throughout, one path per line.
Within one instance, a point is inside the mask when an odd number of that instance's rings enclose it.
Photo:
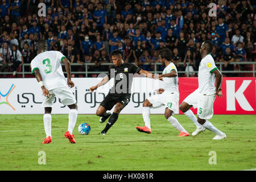
M 147 98 L 152 104 L 151 108 L 158 108 L 162 106 L 168 107 L 173 114 L 179 114 L 179 93 L 163 92 Z

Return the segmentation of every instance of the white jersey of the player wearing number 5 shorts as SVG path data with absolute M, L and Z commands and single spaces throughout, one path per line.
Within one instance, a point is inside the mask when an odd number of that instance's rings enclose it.
M 214 86 L 215 75 L 214 73 L 212 73 L 216 69 L 217 67 L 215 65 L 212 55 L 208 54 L 201 60 L 198 72 L 198 92 L 200 94 L 212 95 L 216 93 Z

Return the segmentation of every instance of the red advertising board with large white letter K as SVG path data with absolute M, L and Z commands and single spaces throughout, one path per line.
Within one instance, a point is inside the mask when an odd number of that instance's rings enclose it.
M 180 104 L 197 88 L 197 78 L 179 78 Z M 224 77 L 221 88 L 224 97 L 216 97 L 214 114 L 256 114 L 255 77 Z

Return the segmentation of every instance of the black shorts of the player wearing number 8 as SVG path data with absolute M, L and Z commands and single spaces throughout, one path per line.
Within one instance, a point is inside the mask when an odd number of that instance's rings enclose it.
M 112 110 L 115 104 L 120 103 L 123 108 L 130 102 L 131 94 L 123 94 L 122 96 L 112 96 L 108 94 L 101 102 L 101 106 L 106 110 Z

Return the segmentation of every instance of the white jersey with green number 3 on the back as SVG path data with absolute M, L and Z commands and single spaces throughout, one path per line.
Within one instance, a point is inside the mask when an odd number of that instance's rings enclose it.
M 32 74 L 35 69 L 39 69 L 46 89 L 52 90 L 67 86 L 67 80 L 61 67 L 64 58 L 65 56 L 59 51 L 46 51 L 31 61 Z

